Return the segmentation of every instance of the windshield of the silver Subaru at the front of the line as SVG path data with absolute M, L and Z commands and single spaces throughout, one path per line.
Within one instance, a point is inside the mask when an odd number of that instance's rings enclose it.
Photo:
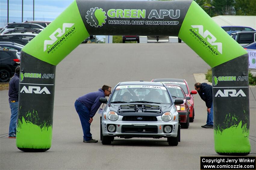
M 111 95 L 110 103 L 171 104 L 171 100 L 163 86 L 120 85 Z

